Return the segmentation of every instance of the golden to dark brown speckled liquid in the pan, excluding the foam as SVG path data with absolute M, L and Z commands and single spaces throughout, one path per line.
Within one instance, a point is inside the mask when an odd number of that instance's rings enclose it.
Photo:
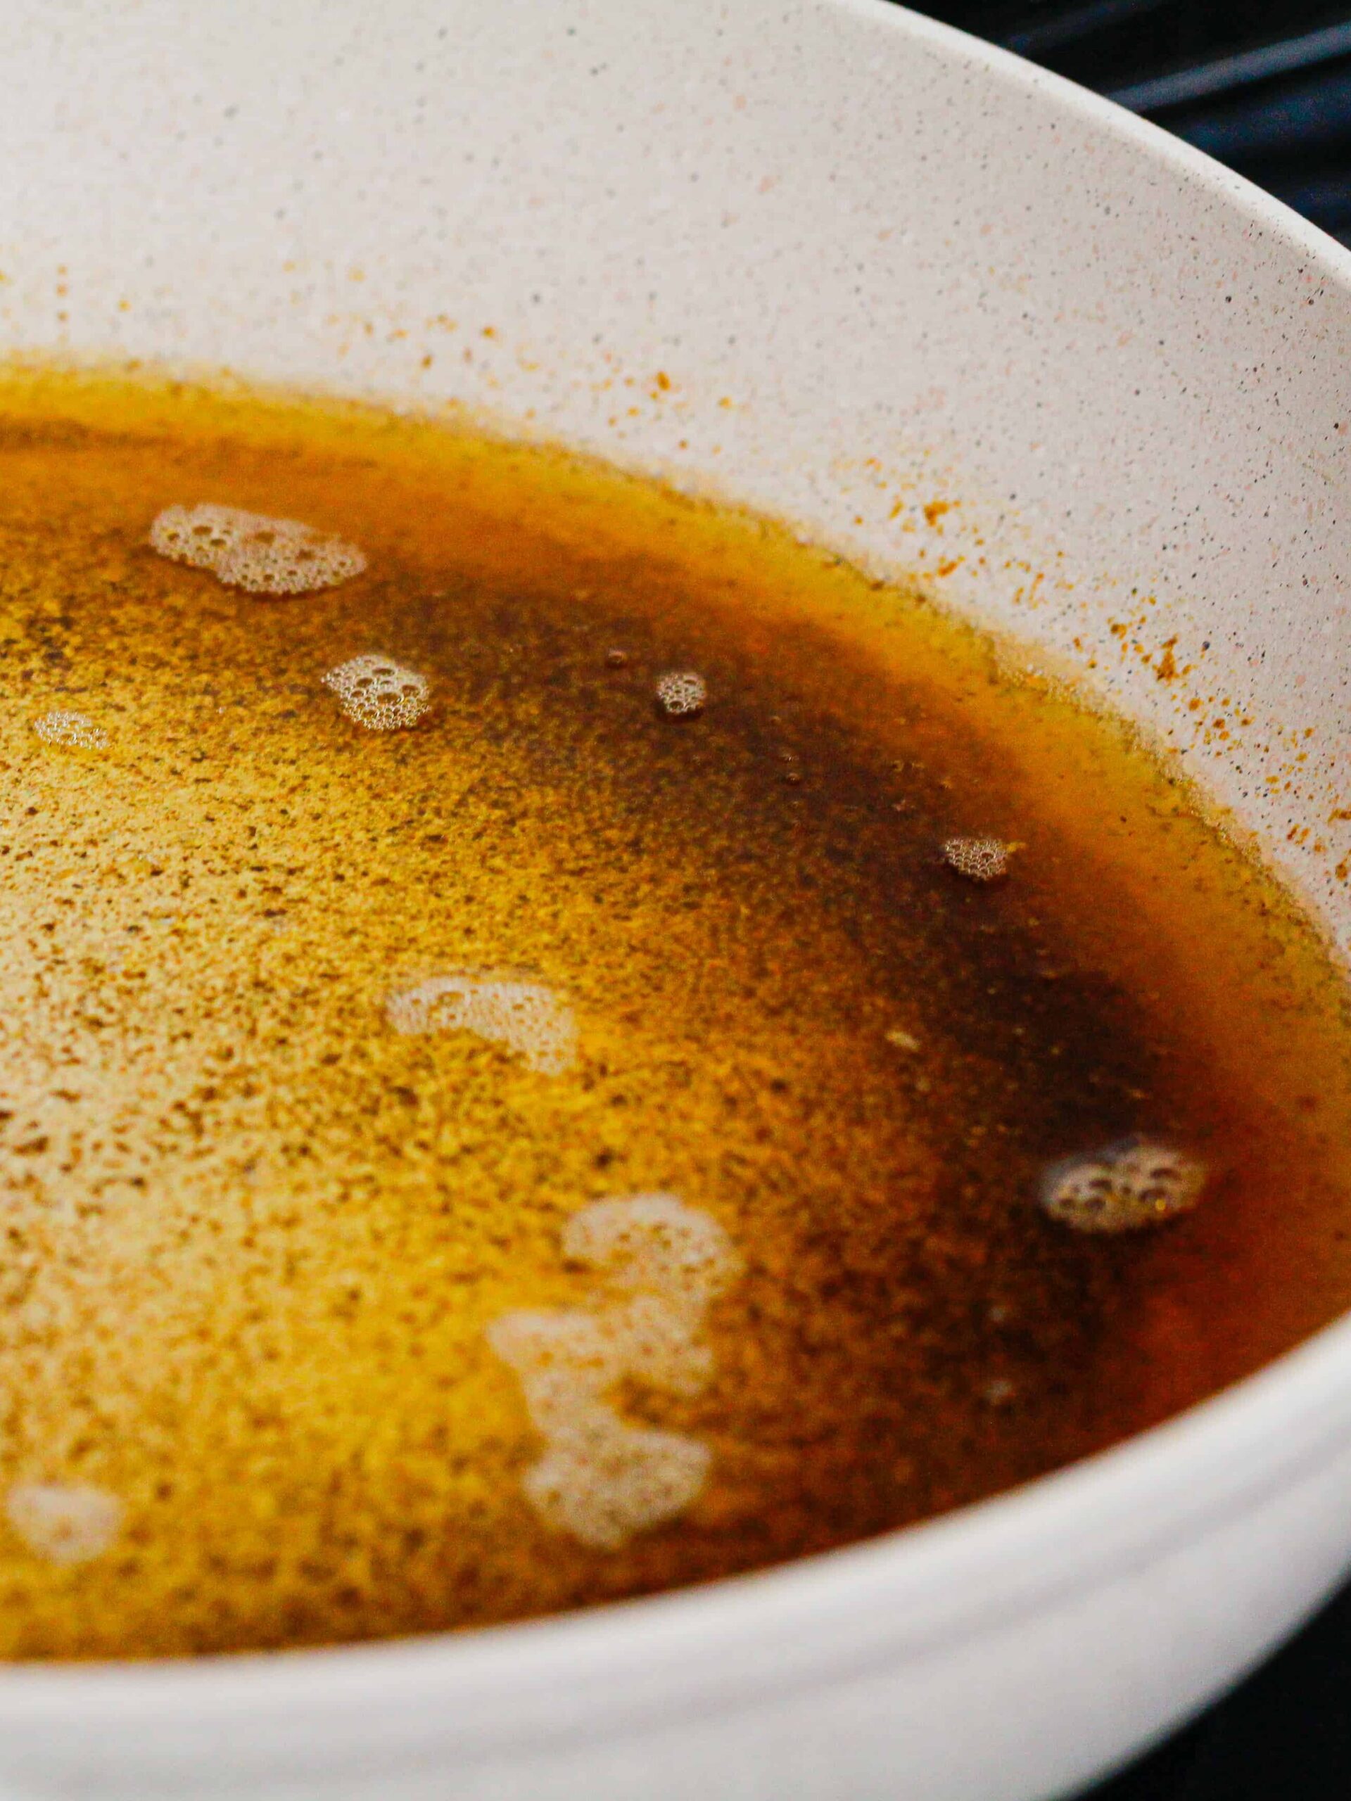
M 223 587 L 146 542 L 198 501 L 369 566 Z M 324 688 L 364 652 L 429 679 L 413 729 Z M 68 1563 L 0 1516 L 0 1655 L 753 1569 L 1106 1446 L 1351 1299 L 1313 928 L 1124 728 L 775 526 L 376 412 L 14 376 L 0 659 L 0 1491 L 121 1507 Z M 54 708 L 106 744 L 45 744 Z M 953 834 L 1023 848 L 980 886 Z M 575 1066 L 391 1028 L 463 969 L 566 994 Z M 1131 1131 L 1205 1160 L 1201 1205 L 1047 1219 L 1047 1163 Z M 699 1392 L 612 1396 L 708 1480 L 602 1549 L 531 1506 L 486 1335 L 593 1304 L 567 1221 L 647 1190 L 740 1273 Z

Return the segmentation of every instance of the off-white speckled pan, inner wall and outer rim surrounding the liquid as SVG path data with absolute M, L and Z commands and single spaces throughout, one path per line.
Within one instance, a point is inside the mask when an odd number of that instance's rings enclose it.
M 1351 940 L 1351 258 L 1238 178 L 872 0 L 65 0 L 0 9 L 0 49 L 4 349 L 468 403 L 926 571 L 1147 724 Z M 1313 1605 L 1347 1491 L 1342 1326 L 784 1572 L 9 1671 L 0 1792 L 1027 1801 Z

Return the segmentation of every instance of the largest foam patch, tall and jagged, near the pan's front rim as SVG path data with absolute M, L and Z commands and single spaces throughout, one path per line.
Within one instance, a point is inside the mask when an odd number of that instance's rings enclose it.
M 607 1399 L 625 1378 L 694 1396 L 713 1374 L 704 1311 L 735 1277 L 722 1226 L 674 1194 L 594 1201 L 567 1221 L 564 1255 L 602 1284 L 594 1309 L 504 1313 L 488 1344 L 521 1380 L 544 1455 L 524 1491 L 549 1525 L 598 1551 L 677 1518 L 712 1453 L 679 1432 L 634 1426 Z

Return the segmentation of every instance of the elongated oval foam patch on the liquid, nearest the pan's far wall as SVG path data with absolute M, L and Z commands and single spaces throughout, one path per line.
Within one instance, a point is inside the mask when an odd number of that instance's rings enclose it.
M 355 544 L 297 519 L 268 519 L 241 506 L 166 506 L 150 528 L 151 549 L 171 562 L 209 569 L 250 594 L 310 594 L 360 575 Z

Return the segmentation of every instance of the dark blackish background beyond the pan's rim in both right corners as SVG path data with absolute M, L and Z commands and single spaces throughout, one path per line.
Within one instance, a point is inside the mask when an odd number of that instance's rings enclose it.
M 1351 245 L 1351 5 L 911 4 L 1110 94 Z M 1351 1587 L 1232 1695 L 1092 1797 L 1351 1801 Z

